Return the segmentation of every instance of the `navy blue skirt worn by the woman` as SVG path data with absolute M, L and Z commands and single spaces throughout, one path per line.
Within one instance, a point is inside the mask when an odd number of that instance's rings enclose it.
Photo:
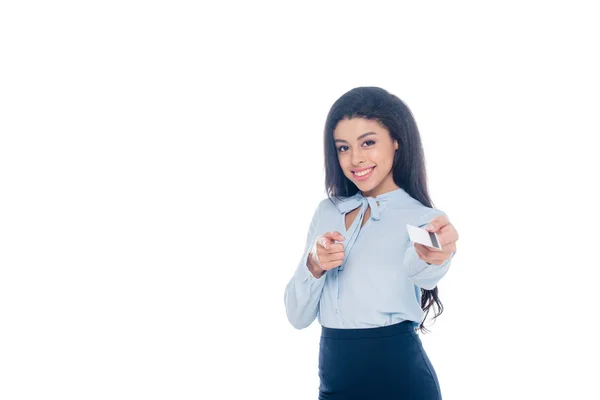
M 441 400 L 413 321 L 368 329 L 321 327 L 319 400 Z

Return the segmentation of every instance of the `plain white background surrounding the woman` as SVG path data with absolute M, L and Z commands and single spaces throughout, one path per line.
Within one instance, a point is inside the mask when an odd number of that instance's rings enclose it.
M 483 3 L 2 2 L 0 398 L 316 398 L 283 291 L 363 85 L 460 234 L 444 399 L 600 398 L 598 15 Z

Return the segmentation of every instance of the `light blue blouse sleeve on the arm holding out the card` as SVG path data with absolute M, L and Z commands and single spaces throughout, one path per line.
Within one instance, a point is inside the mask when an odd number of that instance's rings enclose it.
M 420 228 L 425 227 L 429 221 L 436 216 L 446 215 L 440 210 L 434 211 L 434 213 L 428 214 L 429 218 L 427 220 L 424 220 L 419 224 Z M 432 290 L 437 286 L 440 279 L 448 272 L 455 254 L 456 252 L 453 252 L 450 258 L 443 264 L 428 264 L 419 258 L 413 242 L 409 239 L 406 251 L 404 252 L 404 269 L 416 286 L 426 290 Z

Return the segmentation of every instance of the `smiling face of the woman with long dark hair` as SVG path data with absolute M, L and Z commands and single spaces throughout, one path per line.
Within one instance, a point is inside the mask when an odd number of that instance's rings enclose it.
M 333 139 L 344 175 L 363 196 L 376 197 L 398 189 L 392 178 L 398 142 L 377 121 L 342 119 L 333 131 Z

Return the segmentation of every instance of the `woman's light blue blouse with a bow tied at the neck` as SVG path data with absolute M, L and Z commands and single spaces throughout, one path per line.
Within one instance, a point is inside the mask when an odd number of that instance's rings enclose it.
M 365 212 L 371 217 L 361 228 Z M 346 213 L 360 207 L 350 229 Z M 444 212 L 426 207 L 399 188 L 377 197 L 361 192 L 342 200 L 322 200 L 310 223 L 304 253 L 285 288 L 288 320 L 297 329 L 315 318 L 328 328 L 373 328 L 423 318 L 421 288 L 433 289 L 448 272 L 421 260 L 406 224 L 425 226 Z M 319 279 L 309 271 L 307 257 L 318 236 L 338 231 L 344 236 L 342 264 Z

